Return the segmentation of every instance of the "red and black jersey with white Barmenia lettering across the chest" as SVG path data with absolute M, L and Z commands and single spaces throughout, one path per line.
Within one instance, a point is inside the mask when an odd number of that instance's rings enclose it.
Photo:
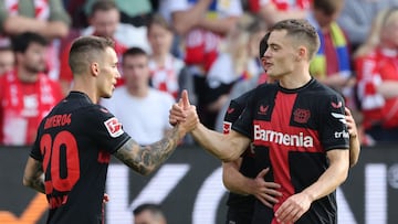
M 281 184 L 283 196 L 273 210 L 255 203 L 253 223 L 275 223 L 281 204 L 325 172 L 326 151 L 349 148 L 344 99 L 316 79 L 296 89 L 260 85 L 232 129 L 253 139 L 256 169 L 270 167 L 265 180 Z M 296 223 L 331 224 L 336 216 L 332 193 L 313 202 Z

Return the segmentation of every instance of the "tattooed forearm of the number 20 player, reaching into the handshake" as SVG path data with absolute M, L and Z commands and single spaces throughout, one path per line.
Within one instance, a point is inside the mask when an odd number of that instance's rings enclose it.
M 149 146 L 139 146 L 130 139 L 116 151 L 115 157 L 135 171 L 149 174 L 170 157 L 179 140 L 178 127 L 175 127 L 165 138 Z

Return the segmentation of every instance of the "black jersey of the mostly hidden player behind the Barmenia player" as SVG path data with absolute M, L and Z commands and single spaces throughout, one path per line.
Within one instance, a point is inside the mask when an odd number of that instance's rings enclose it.
M 254 93 L 254 90 L 247 92 L 238 98 L 234 98 L 230 102 L 230 105 L 227 109 L 223 120 L 223 132 L 228 134 L 231 130 L 232 124 L 240 117 L 242 114 L 249 98 Z M 255 170 L 254 166 L 254 153 L 251 148 L 247 149 L 242 157 L 242 162 L 239 171 L 248 178 L 255 178 L 259 171 Z M 253 195 L 241 195 L 230 192 L 227 200 L 227 205 L 229 206 L 228 218 L 242 218 L 251 220 L 253 214 L 255 198 Z M 235 214 L 230 214 L 235 213 Z M 239 223 L 239 221 L 237 221 Z M 248 223 L 248 222 L 245 222 Z

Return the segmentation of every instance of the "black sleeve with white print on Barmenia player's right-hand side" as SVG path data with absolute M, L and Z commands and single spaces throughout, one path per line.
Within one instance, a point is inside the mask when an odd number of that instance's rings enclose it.
M 345 120 L 344 99 L 338 94 L 329 95 L 321 111 L 320 138 L 325 150 L 348 149 L 349 134 Z

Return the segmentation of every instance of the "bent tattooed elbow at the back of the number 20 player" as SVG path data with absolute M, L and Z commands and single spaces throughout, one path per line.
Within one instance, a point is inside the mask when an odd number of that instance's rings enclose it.
M 23 185 L 45 193 L 42 163 L 31 157 L 28 159 L 23 173 Z

